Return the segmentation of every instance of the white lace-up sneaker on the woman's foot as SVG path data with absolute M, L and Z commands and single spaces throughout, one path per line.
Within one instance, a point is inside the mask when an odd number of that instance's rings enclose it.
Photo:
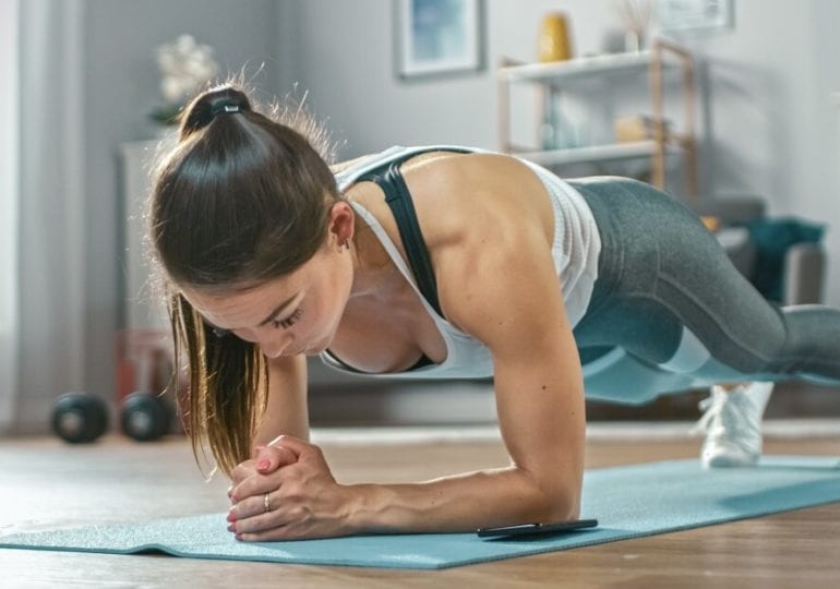
M 761 418 L 773 383 L 745 383 L 727 392 L 712 386 L 700 401 L 703 418 L 694 431 L 705 431 L 700 450 L 704 468 L 754 466 L 761 456 Z

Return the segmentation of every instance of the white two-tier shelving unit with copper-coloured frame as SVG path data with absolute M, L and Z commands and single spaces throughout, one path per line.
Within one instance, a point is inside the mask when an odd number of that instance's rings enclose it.
M 665 130 L 663 71 L 677 68 L 682 72 L 683 129 Z M 515 84 L 536 84 L 556 99 L 561 91 L 571 91 L 583 80 L 602 79 L 611 74 L 638 72 L 648 74 L 653 133 L 649 140 L 587 145 L 563 149 L 539 149 L 516 146 L 511 141 L 511 92 Z M 553 63 L 513 64 L 504 62 L 496 71 L 499 83 L 499 131 L 502 151 L 516 154 L 543 166 L 604 163 L 650 158 L 652 183 L 665 185 L 665 155 L 682 154 L 685 163 L 686 196 L 697 195 L 697 152 L 694 139 L 695 76 L 694 59 L 682 47 L 658 39 L 650 50 L 634 53 L 604 55 Z M 540 113 L 540 118 L 542 113 Z

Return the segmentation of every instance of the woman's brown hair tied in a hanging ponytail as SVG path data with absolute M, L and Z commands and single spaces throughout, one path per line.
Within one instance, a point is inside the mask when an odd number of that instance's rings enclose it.
M 296 271 L 324 244 L 339 199 L 314 146 L 325 135 L 302 109 L 290 112 L 257 112 L 232 85 L 201 94 L 184 110 L 151 197 L 149 241 L 165 275 L 176 374 L 189 364 L 182 421 L 196 459 L 208 443 L 228 474 L 250 457 L 265 410 L 265 358 L 253 344 L 218 337 L 179 286 L 247 290 Z

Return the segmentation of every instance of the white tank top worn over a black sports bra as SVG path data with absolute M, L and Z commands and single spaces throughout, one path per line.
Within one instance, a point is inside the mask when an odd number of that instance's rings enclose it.
M 484 149 L 440 145 L 427 147 L 391 147 L 381 154 L 360 160 L 336 173 L 338 190 L 344 192 L 361 176 L 395 159 L 405 159 L 413 154 L 431 151 L 456 149 L 472 153 L 492 153 Z M 531 168 L 542 181 L 551 199 L 554 209 L 554 243 L 552 256 L 554 268 L 563 288 L 566 314 L 572 326 L 584 316 L 592 286 L 598 276 L 598 254 L 601 251 L 601 239 L 595 218 L 583 196 L 568 183 L 557 178 L 545 168 L 531 161 L 521 160 Z M 382 247 L 394 261 L 394 265 L 403 273 L 408 283 L 417 291 L 423 308 L 434 321 L 437 330 L 446 344 L 446 359 L 441 364 L 429 364 L 406 372 L 370 374 L 385 378 L 483 378 L 493 375 L 493 359 L 490 350 L 475 337 L 461 332 L 444 317 L 439 315 L 420 293 L 415 277 L 403 260 L 399 251 L 382 224 L 358 203 L 351 203 L 353 211 L 371 228 L 382 243 Z M 321 354 L 322 360 L 336 370 L 359 374 L 336 361 L 328 353 Z M 368 374 L 368 373 L 363 373 Z

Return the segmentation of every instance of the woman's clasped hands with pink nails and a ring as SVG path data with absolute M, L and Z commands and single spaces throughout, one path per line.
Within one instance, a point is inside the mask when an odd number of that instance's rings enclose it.
M 265 542 L 347 536 L 351 493 L 336 483 L 321 448 L 281 435 L 231 472 L 228 531 Z

